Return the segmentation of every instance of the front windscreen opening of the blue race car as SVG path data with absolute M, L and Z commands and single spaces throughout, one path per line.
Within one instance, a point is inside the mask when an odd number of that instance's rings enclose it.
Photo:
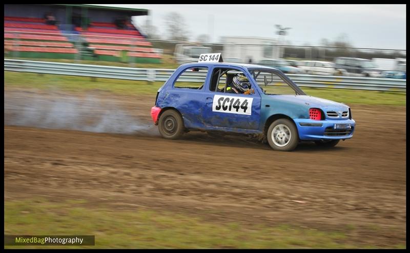
M 249 69 L 253 80 L 267 95 L 305 95 L 289 77 L 271 69 Z

